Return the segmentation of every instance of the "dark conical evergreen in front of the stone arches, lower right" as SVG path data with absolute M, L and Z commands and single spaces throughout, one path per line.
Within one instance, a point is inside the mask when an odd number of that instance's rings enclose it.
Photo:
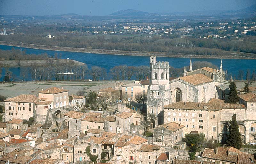
M 232 116 L 230 126 L 228 129 L 228 135 L 226 140 L 227 146 L 232 146 L 236 149 L 241 148 L 242 139 L 240 138 L 239 126 L 236 122 L 236 115 Z

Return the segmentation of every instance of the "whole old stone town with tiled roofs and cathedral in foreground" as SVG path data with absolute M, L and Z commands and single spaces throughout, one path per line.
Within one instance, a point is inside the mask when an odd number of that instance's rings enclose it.
M 254 164 L 256 93 L 220 68 L 169 77 L 150 57 L 145 80 L 88 95 L 65 86 L 4 100 L 1 164 Z M 238 93 L 239 92 L 239 93 Z M 237 138 L 236 138 L 237 137 Z

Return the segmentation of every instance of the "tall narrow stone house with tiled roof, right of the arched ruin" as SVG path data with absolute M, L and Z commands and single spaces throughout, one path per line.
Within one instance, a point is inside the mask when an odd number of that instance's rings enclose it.
M 65 125 L 68 126 L 68 137 L 77 137 L 81 132 L 81 120 L 84 119 L 85 113 L 69 111 L 64 114 Z

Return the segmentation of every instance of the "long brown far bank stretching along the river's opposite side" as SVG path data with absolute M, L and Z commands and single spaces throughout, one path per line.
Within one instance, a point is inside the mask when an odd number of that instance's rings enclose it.
M 20 47 L 19 43 L 0 41 L 0 45 L 8 45 Z M 204 56 L 204 55 L 191 55 L 191 54 L 169 54 L 160 52 L 140 52 L 140 51 L 120 51 L 120 50 L 104 50 L 104 49 L 86 49 L 86 48 L 72 48 L 72 47 L 57 47 L 36 44 L 23 43 L 22 47 L 41 49 L 41 50 L 54 50 L 54 51 L 68 51 L 68 52 L 82 52 L 82 53 L 96 53 L 96 54 L 111 54 L 111 55 L 131 55 L 131 56 L 157 56 L 157 57 L 172 57 L 172 58 L 209 58 L 209 59 L 256 59 L 255 54 L 241 53 L 241 52 L 228 52 L 221 56 Z

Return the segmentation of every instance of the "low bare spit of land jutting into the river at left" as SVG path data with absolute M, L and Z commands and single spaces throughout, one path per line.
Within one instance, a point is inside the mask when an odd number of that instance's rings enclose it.
M 8 65 L 9 67 L 28 67 L 28 66 L 60 66 L 73 61 L 75 65 L 84 65 L 84 63 L 76 60 L 52 59 L 48 60 L 0 60 L 0 65 Z

